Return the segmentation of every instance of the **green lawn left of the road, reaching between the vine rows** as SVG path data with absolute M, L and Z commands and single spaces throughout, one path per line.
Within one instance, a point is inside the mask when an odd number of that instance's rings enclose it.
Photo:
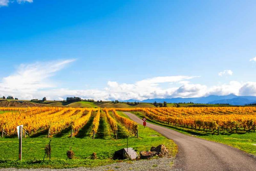
M 127 117 L 124 113 L 118 114 Z M 106 116 L 101 113 L 100 127 L 95 139 L 92 139 L 91 126 L 94 113 L 88 123 L 81 128 L 76 137 L 70 138 L 71 129 L 65 129 L 61 134 L 54 135 L 51 139 L 51 161 L 44 158 L 44 147 L 49 143 L 46 132 L 38 133 L 33 137 L 23 138 L 22 142 L 22 161 L 18 159 L 18 137 L 0 137 L 0 167 L 17 167 L 17 168 L 71 168 L 71 167 L 96 167 L 107 165 L 114 162 L 112 160 L 115 151 L 126 147 L 126 138 L 115 139 L 110 129 Z M 119 125 L 119 136 L 122 137 L 125 130 Z M 152 136 L 156 135 L 156 136 Z M 135 149 L 136 152 L 148 151 L 151 146 L 165 144 L 172 156 L 177 153 L 177 146 L 172 140 L 167 139 L 161 134 L 150 128 L 139 128 L 139 139 L 130 136 L 128 146 Z M 75 159 L 68 159 L 66 152 L 69 147 L 75 152 Z M 91 159 L 93 152 L 97 153 L 98 159 Z

